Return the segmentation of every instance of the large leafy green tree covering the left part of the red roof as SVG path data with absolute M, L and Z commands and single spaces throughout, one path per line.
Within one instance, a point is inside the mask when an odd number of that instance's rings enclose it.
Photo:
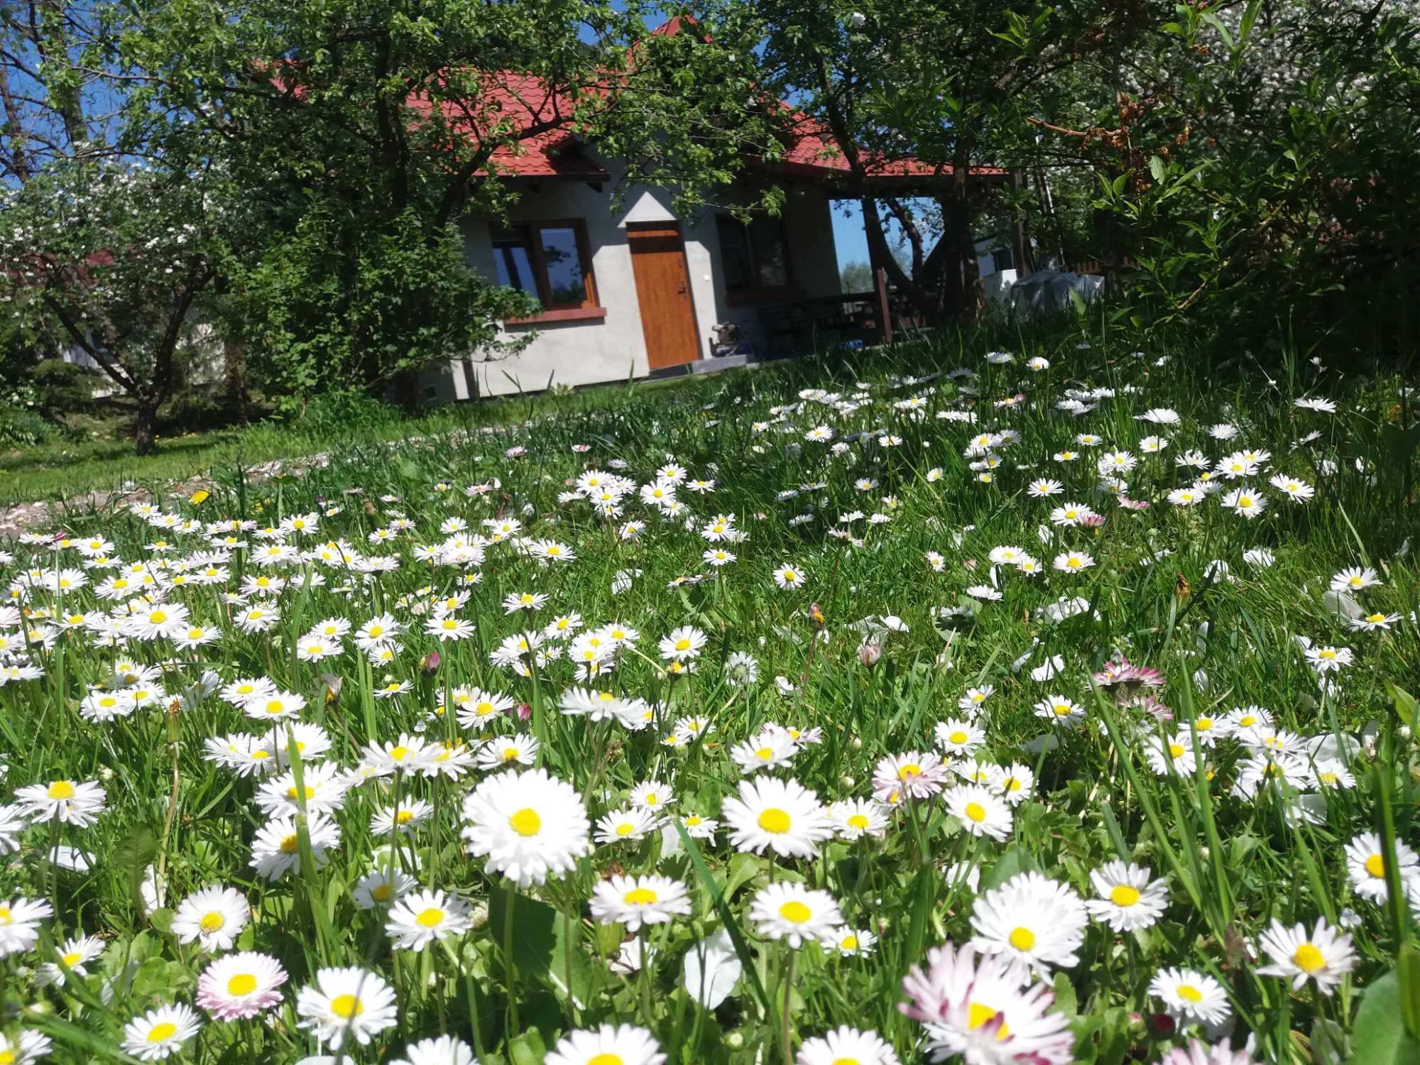
M 500 176 L 524 145 L 595 142 L 683 202 L 775 149 L 743 61 L 694 31 L 648 36 L 645 3 L 227 7 L 155 4 L 133 47 L 149 109 L 220 141 L 261 213 L 270 237 L 230 278 L 224 322 L 290 403 L 506 349 L 497 322 L 535 304 L 471 270 L 459 224 L 507 213 Z

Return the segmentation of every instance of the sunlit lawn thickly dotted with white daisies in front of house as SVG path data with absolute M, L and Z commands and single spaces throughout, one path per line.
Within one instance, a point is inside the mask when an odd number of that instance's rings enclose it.
M 1416 1061 L 1414 392 L 990 346 L 27 535 L 0 1055 Z

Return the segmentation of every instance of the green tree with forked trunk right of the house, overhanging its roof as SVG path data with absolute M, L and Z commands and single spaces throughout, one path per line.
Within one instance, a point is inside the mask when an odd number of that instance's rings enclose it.
M 985 187 L 971 168 L 1025 162 L 1022 138 L 1003 121 L 1018 122 L 1011 102 L 1034 98 L 1045 75 L 1069 58 L 1064 48 L 1030 53 L 1003 38 L 1018 6 L 726 0 L 717 9 L 721 20 L 763 40 L 765 88 L 828 131 L 846 163 L 843 190 L 861 203 L 873 266 L 929 318 L 974 308 L 974 220 L 1011 186 L 1003 173 Z M 1056 4 L 1054 26 L 1066 31 L 1081 18 L 1075 9 L 1088 7 Z M 1045 17 L 1044 9 L 1031 14 Z M 910 187 L 895 192 L 900 182 L 880 175 L 905 159 L 923 168 Z M 895 230 L 906 243 L 906 266 L 893 256 Z M 934 233 L 941 237 L 932 244 Z

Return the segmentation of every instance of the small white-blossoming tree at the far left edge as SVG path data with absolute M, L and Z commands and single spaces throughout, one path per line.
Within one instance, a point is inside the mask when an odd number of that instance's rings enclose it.
M 84 351 L 133 400 L 142 454 L 193 310 L 247 224 L 220 166 L 197 151 L 176 163 L 153 135 L 124 47 L 138 10 L 0 9 L 0 294 L 37 354 Z

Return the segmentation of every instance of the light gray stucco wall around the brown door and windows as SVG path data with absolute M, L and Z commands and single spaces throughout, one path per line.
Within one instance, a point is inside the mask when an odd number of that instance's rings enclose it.
M 606 317 L 538 325 L 514 325 L 506 335 L 535 329 L 532 342 L 513 358 L 486 361 L 481 355 L 454 359 L 449 372 L 422 375 L 423 398 L 429 402 L 470 399 L 476 395 L 534 392 L 548 383 L 591 385 L 645 376 L 649 372 L 646 344 L 640 327 L 636 278 L 626 241 L 628 222 L 663 222 L 674 219 L 672 195 L 662 189 L 635 187 L 616 213 L 609 210 L 611 190 L 621 169 L 602 160 L 612 180 L 602 190 L 582 182 L 544 180 L 523 192 L 511 210 L 511 220 L 585 219 L 592 253 L 596 295 Z M 822 190 L 808 187 L 791 192 L 784 207 L 788 254 L 795 287 L 804 295 L 838 293 L 838 256 L 829 202 Z M 754 307 L 730 307 L 726 300 L 716 212 L 697 212 L 682 219 L 690 297 L 700 338 L 700 358 L 710 354 L 710 329 L 716 322 L 734 321 L 751 341 L 758 335 Z M 464 223 L 469 261 L 493 277 L 493 243 L 488 223 Z M 763 341 L 761 341 L 763 344 Z M 757 348 L 763 349 L 763 346 Z

